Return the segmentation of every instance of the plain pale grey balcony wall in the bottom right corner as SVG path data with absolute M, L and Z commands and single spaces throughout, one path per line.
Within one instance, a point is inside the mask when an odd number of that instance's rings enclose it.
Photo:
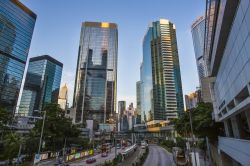
M 250 165 L 250 140 L 219 137 L 219 150 L 242 165 Z

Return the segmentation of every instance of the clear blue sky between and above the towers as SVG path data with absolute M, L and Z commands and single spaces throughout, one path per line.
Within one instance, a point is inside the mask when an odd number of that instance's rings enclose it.
M 118 24 L 118 100 L 135 102 L 142 39 L 150 22 L 176 25 L 183 93 L 198 86 L 191 24 L 204 14 L 205 0 L 21 0 L 37 14 L 29 57 L 49 54 L 64 64 L 62 85 L 72 103 L 81 22 Z

